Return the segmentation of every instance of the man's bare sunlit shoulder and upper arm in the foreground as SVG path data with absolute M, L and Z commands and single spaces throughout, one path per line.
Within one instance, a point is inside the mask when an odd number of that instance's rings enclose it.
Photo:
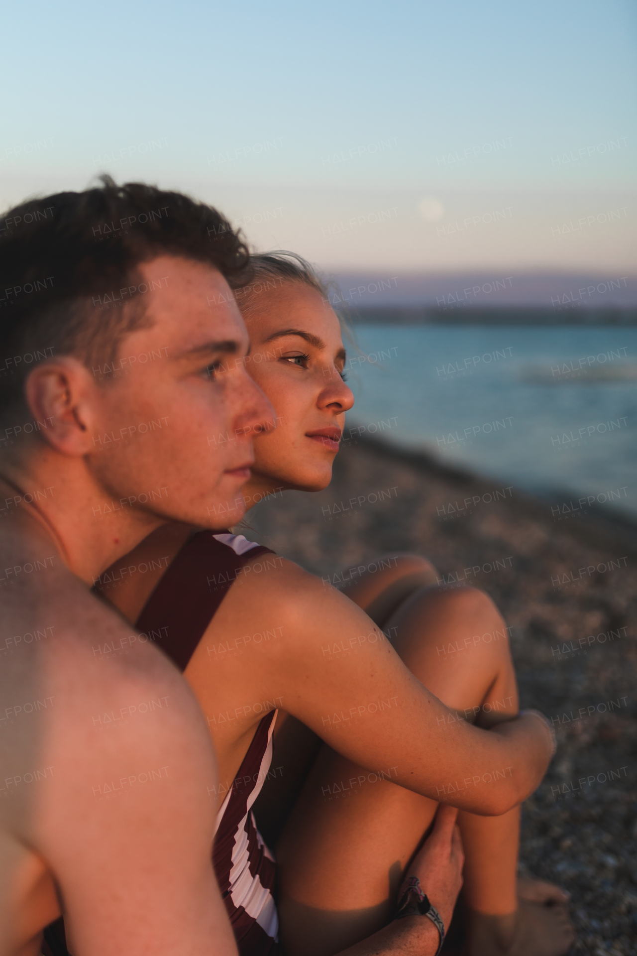
M 77 941 L 96 935 L 105 886 L 111 895 L 117 887 L 129 933 L 149 894 L 160 892 L 158 874 L 165 883 L 164 869 L 191 889 L 196 871 L 210 892 L 214 752 L 177 669 L 81 581 L 62 576 L 48 590 L 5 597 L 2 640 L 12 642 L 0 644 L 9 662 L 0 678 L 0 925 L 14 918 L 3 908 L 7 886 L 45 860 L 70 945 L 84 951 Z M 23 907 L 35 933 L 56 913 L 33 911 L 30 899 L 25 891 L 13 910 Z

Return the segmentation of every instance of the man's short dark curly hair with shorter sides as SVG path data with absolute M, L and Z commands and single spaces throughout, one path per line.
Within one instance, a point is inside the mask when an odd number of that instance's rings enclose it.
M 0 413 L 24 401 L 24 379 L 39 360 L 112 361 L 121 339 L 147 323 L 138 266 L 165 254 L 209 264 L 232 288 L 251 276 L 241 233 L 221 213 L 157 186 L 117 185 L 102 176 L 96 188 L 28 200 L 6 212 Z M 124 289 L 129 305 L 101 306 Z

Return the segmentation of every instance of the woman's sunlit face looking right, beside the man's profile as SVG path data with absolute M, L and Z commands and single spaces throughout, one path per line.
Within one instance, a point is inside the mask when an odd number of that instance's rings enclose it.
M 276 428 L 254 437 L 248 508 L 266 491 L 318 491 L 354 400 L 343 380 L 345 349 L 329 303 L 302 282 L 256 294 L 244 315 L 251 342 L 247 370 L 274 406 Z

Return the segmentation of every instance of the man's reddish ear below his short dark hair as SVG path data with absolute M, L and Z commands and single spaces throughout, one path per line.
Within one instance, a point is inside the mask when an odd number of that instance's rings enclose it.
M 98 385 L 71 356 L 46 359 L 25 381 L 25 398 L 38 434 L 63 455 L 82 456 L 95 448 Z

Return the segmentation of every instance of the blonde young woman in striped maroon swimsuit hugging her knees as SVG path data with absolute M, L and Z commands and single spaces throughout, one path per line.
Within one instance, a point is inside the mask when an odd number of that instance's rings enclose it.
M 325 488 L 352 404 L 338 319 L 316 277 L 289 255 L 254 264 L 238 301 L 248 368 L 277 421 L 255 436 L 248 504 L 275 489 Z M 232 439 L 209 436 L 205 453 Z M 251 814 L 275 727 L 259 812 L 271 832 L 283 825 L 287 956 L 327 956 L 387 923 L 440 800 L 460 810 L 469 956 L 565 952 L 562 892 L 516 883 L 519 805 L 553 741 L 541 715 L 519 715 L 506 639 L 473 641 L 506 633 L 490 599 L 428 587 L 431 565 L 411 555 L 394 555 L 389 573 L 361 578 L 345 597 L 265 552 L 242 535 L 169 526 L 128 555 L 143 574 L 117 566 L 102 582 L 129 619 L 170 645 L 207 716 L 223 781 L 216 869 L 242 954 L 267 952 L 260 932 L 275 933 L 273 864 Z M 472 649 L 442 664 L 443 640 Z M 337 661 L 329 643 L 347 648 Z M 330 799 L 342 786 L 356 798 Z

